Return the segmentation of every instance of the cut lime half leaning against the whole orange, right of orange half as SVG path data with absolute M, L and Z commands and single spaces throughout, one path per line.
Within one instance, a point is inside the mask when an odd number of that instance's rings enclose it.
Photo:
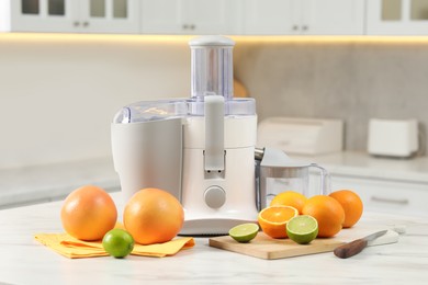
M 300 244 L 309 243 L 318 235 L 318 223 L 309 215 L 301 215 L 286 223 L 286 235 Z

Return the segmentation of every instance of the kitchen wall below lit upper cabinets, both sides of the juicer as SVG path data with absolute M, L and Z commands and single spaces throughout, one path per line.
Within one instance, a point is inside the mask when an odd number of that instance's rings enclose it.
M 110 156 L 127 103 L 188 96 L 188 37 L 0 34 L 0 169 Z M 428 124 L 428 42 L 237 39 L 235 76 L 259 118 L 342 118 L 364 150 L 370 117 Z

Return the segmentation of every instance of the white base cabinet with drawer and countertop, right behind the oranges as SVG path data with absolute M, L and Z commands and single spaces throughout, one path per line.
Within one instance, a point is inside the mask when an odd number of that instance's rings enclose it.
M 342 151 L 311 160 L 327 169 L 331 191 L 353 190 L 361 196 L 365 210 L 428 217 L 428 158 L 425 156 L 391 159 L 365 151 Z M 319 173 L 311 172 L 311 187 L 319 189 Z

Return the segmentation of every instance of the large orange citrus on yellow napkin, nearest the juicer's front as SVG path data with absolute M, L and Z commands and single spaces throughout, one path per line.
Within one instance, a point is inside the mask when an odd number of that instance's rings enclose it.
M 181 230 L 184 210 L 170 193 L 143 189 L 135 193 L 123 213 L 125 228 L 140 244 L 170 241 Z

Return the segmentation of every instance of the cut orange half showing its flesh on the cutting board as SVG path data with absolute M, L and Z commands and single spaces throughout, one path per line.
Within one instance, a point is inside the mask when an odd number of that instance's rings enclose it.
M 286 238 L 286 223 L 299 215 L 299 210 L 290 206 L 270 206 L 259 213 L 259 225 L 263 232 L 274 239 Z

